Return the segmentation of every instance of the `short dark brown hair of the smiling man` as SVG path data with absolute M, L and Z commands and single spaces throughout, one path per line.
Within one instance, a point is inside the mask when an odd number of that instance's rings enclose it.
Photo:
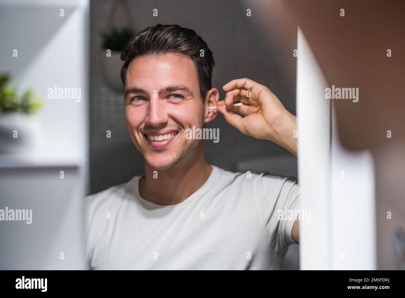
M 204 57 L 200 56 L 202 49 Z M 124 61 L 121 68 L 121 80 L 124 86 L 126 71 L 132 59 L 139 56 L 160 56 L 169 53 L 186 55 L 194 62 L 200 95 L 204 102 L 205 95 L 211 89 L 212 68 L 215 65 L 212 51 L 194 30 L 179 25 L 150 26 L 130 39 L 121 53 L 121 60 Z

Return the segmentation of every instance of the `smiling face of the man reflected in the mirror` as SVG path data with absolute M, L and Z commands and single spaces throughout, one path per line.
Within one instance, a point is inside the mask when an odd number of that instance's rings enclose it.
M 186 129 L 202 128 L 205 119 L 190 58 L 137 57 L 128 65 L 125 89 L 128 132 L 151 169 L 170 169 L 198 145 L 200 140 L 186 139 Z

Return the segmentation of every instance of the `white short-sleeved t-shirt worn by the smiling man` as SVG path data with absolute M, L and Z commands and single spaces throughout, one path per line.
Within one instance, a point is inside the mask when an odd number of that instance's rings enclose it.
M 211 175 L 185 201 L 160 206 L 143 199 L 139 180 L 85 198 L 88 269 L 280 269 L 297 209 L 296 178 L 233 173 Z

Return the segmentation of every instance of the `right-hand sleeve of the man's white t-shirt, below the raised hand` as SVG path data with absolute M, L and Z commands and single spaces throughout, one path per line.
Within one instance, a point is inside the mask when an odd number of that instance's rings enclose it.
M 299 212 L 299 187 L 295 177 L 262 173 L 255 177 L 254 198 L 276 253 L 285 255 L 297 243 L 291 231 Z

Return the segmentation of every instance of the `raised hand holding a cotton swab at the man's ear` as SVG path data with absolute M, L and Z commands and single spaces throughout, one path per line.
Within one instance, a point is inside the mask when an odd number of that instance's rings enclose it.
M 245 135 L 273 141 L 296 156 L 296 117 L 286 110 L 269 88 L 246 78 L 234 79 L 222 88 L 227 92 L 225 100 L 218 102 L 217 110 L 224 115 L 226 122 Z M 237 101 L 243 105 L 233 107 Z

